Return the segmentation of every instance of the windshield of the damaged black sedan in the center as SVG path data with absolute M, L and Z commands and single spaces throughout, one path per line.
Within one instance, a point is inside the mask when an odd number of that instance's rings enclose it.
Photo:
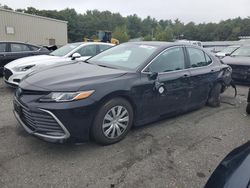
M 144 63 L 156 49 L 156 46 L 126 43 L 110 48 L 89 59 L 88 62 L 103 66 L 135 70 Z

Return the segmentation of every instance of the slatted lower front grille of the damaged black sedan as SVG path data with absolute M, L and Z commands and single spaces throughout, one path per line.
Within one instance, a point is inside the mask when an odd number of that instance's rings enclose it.
M 34 132 L 49 136 L 65 135 L 64 130 L 57 121 L 46 112 L 34 112 L 26 108 L 21 108 L 20 113 L 22 121 Z

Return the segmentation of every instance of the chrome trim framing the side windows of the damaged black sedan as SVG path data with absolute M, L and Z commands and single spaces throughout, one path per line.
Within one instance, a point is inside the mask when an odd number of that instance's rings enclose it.
M 167 49 L 165 49 L 165 50 L 163 50 L 161 53 L 159 53 L 157 56 L 155 56 L 143 69 L 142 69 L 142 71 L 141 71 L 141 73 L 142 74 L 152 74 L 152 72 L 147 72 L 147 71 L 145 71 L 145 69 L 151 64 L 151 63 L 153 63 L 153 61 L 156 59 L 156 58 L 158 58 L 162 53 L 164 53 L 165 51 L 167 51 L 167 50 L 169 50 L 169 49 L 172 49 L 172 48 L 180 48 L 180 47 L 182 47 L 182 48 L 188 48 L 187 46 L 184 46 L 184 45 L 182 45 L 182 46 L 173 46 L 173 47 L 169 47 L 169 48 L 167 48 Z M 191 47 L 191 48 L 195 48 L 195 47 Z M 198 49 L 198 48 L 195 48 L 195 49 Z M 201 49 L 200 49 L 201 50 Z M 207 54 L 206 52 L 204 52 L 203 50 L 201 50 L 203 53 L 205 53 L 205 54 Z M 187 52 L 188 53 L 188 52 Z M 184 54 L 185 55 L 185 54 Z M 208 55 L 208 54 L 207 54 Z M 210 55 L 208 55 L 209 57 L 210 57 Z M 210 57 L 211 58 L 211 57 Z M 159 72 L 158 74 L 159 75 L 161 75 L 161 74 L 168 74 L 168 73 L 174 73 L 174 72 L 180 72 L 180 71 L 188 71 L 188 70 L 190 70 L 190 69 L 192 69 L 192 70 L 195 70 L 195 69 L 200 69 L 200 68 L 204 68 L 204 67 L 209 67 L 209 66 L 211 66 L 212 64 L 214 64 L 214 61 L 213 61 L 213 59 L 211 58 L 211 60 L 212 60 L 212 62 L 209 64 L 209 65 L 206 65 L 206 66 L 202 66 L 202 67 L 188 67 L 188 68 L 184 68 L 184 69 L 182 69 L 182 70 L 174 70 L 174 71 L 169 71 L 169 72 Z

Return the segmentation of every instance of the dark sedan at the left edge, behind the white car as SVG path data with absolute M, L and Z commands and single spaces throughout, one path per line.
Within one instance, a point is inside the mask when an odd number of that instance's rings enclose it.
M 0 42 L 0 76 L 3 75 L 3 67 L 7 63 L 22 57 L 49 54 L 45 47 L 22 42 Z

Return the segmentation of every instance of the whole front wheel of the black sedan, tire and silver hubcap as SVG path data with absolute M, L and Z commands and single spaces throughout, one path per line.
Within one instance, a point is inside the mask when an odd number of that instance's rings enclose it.
M 123 98 L 114 98 L 104 103 L 94 120 L 92 136 L 101 145 L 114 144 L 122 140 L 133 123 L 133 108 Z

